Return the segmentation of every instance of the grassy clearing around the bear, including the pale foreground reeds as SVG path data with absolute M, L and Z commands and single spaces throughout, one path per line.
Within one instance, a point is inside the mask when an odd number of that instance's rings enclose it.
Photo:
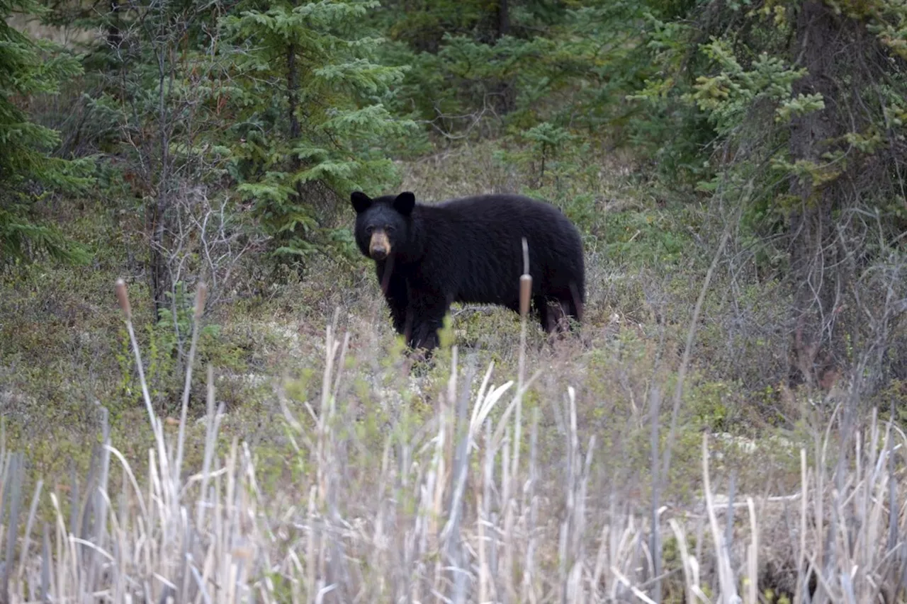
M 402 167 L 529 185 L 490 146 Z M 629 161 L 576 186 L 580 337 L 456 307 L 419 375 L 364 259 L 220 296 L 181 363 L 129 217 L 48 207 L 100 251 L 0 283 L 11 600 L 902 601 L 898 424 L 784 387 L 784 293 L 714 217 Z

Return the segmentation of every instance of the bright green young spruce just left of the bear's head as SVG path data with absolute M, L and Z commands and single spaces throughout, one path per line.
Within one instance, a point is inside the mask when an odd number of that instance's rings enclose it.
M 279 255 L 352 253 L 334 228 L 346 194 L 395 182 L 386 150 L 411 122 L 385 107 L 403 69 L 375 61 L 380 37 L 363 32 L 376 2 L 256 2 L 222 24 L 238 89 L 233 173 Z

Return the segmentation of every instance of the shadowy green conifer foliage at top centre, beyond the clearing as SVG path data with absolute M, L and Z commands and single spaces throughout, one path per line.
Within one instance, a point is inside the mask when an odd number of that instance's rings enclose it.
M 591 136 L 627 118 L 619 91 L 638 77 L 626 68 L 638 1 L 509 3 L 506 24 L 498 3 L 432 3 L 428 15 L 392 22 L 396 4 L 377 15 L 399 41 L 385 57 L 412 65 L 394 106 L 434 130 L 518 133 L 551 122 Z

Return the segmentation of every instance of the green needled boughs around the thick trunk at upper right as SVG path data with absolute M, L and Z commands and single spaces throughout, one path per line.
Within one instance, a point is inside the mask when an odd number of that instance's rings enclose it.
M 844 3 L 840 8 L 857 21 L 854 26 L 876 33 L 883 46 L 896 52 L 898 44 L 894 39 L 907 32 L 903 25 L 907 23 L 907 13 L 903 6 L 887 0 L 860 6 Z M 706 16 L 704 8 L 691 6 L 687 14 L 676 15 L 671 20 L 650 15 L 642 34 L 645 47 L 651 58 L 661 64 L 662 71 L 649 78 L 647 85 L 631 98 L 662 108 L 668 108 L 670 99 L 687 105 L 685 112 L 674 116 L 678 128 L 696 120 L 689 112 L 695 107 L 714 128 L 715 142 L 729 144 L 736 153 L 735 161 L 722 167 L 732 178 L 740 170 L 751 171 L 756 162 L 770 164 L 775 171 L 760 177 L 763 180 L 756 187 L 756 198 L 768 187 L 784 191 L 783 187 L 778 188 L 783 180 L 779 174 L 821 185 L 844 173 L 841 169 L 830 170 L 834 163 L 839 168 L 844 166 L 841 156 L 826 158 L 818 164 L 791 160 L 786 150 L 778 152 L 784 149 L 782 145 L 786 143 L 786 132 L 792 121 L 827 106 L 821 93 L 794 92 L 794 83 L 807 73 L 804 67 L 795 65 L 798 57 L 789 51 L 791 35 L 795 34 L 795 20 L 791 18 L 795 9 L 795 5 L 785 3 L 730 3 Z M 706 31 L 699 33 L 695 24 L 706 25 Z M 856 65 L 844 66 L 844 62 L 842 65 L 842 77 L 847 81 L 872 77 L 871 73 L 846 72 L 857 69 Z M 888 65 L 892 79 L 880 86 L 872 98 L 867 96 L 861 108 L 881 101 L 876 115 L 886 125 L 854 122 L 857 130 L 843 137 L 846 145 L 860 153 L 881 151 L 891 143 L 891 138 L 881 136 L 880 132 L 885 127 L 901 125 L 892 117 L 901 113 L 900 99 L 907 91 L 907 82 L 902 65 L 893 60 Z M 875 69 L 868 63 L 863 66 L 867 72 Z M 894 89 L 900 92 L 889 96 Z M 663 134 L 668 139 L 673 136 L 673 132 Z M 706 159 L 702 154 L 700 157 Z M 704 175 L 708 180 L 713 178 L 713 174 Z M 705 185 L 705 190 L 714 187 Z

